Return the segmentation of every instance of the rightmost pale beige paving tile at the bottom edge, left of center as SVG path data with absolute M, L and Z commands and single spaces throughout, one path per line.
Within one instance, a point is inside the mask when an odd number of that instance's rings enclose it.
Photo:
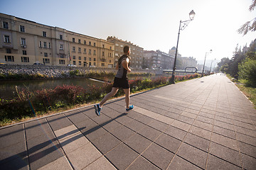
M 88 157 L 88 155 L 90 155 L 90 157 Z M 91 143 L 88 143 L 87 145 L 70 152 L 67 156 L 75 169 L 83 169 L 85 166 L 95 162 L 96 159 L 102 157 L 102 154 L 100 154 Z

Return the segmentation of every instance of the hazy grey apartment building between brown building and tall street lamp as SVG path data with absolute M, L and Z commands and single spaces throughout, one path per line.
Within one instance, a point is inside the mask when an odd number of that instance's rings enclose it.
M 174 66 L 174 57 L 161 52 L 156 51 L 144 51 L 143 55 L 143 68 L 148 69 L 172 69 Z

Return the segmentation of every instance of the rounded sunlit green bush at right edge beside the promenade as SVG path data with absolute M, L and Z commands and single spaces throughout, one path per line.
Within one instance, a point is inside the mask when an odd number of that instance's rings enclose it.
M 256 60 L 247 58 L 239 64 L 239 76 L 247 80 L 248 86 L 256 86 Z

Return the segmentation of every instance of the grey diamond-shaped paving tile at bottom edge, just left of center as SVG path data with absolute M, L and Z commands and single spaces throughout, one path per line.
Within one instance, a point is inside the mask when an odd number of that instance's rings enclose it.
M 107 159 L 110 160 L 117 169 L 122 170 L 127 169 L 127 167 L 132 164 L 137 157 L 139 157 L 139 154 L 126 145 L 121 144 L 105 154 L 105 157 L 107 157 Z

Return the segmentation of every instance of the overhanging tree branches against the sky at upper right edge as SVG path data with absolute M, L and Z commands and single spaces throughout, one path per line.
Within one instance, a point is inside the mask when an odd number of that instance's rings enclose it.
M 255 9 L 255 6 L 256 6 L 256 0 L 252 0 L 252 4 L 249 7 L 249 11 L 252 12 Z M 256 17 L 253 18 L 251 21 L 247 21 L 245 24 L 243 24 L 238 29 L 238 33 L 245 35 L 250 30 L 251 31 L 255 31 L 256 30 Z

